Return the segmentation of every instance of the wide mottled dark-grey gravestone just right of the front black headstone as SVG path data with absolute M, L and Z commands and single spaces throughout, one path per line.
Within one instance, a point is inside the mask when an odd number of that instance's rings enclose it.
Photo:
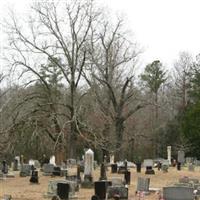
M 107 199 L 128 199 L 128 188 L 124 186 L 108 186 Z

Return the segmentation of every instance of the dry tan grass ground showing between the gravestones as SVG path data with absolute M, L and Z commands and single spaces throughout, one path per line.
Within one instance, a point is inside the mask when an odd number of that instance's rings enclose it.
M 76 169 L 69 169 L 69 173 L 75 174 Z M 168 173 L 163 173 L 155 169 L 155 175 L 145 175 L 144 169 L 141 173 L 136 173 L 136 169 L 131 169 L 131 185 L 129 185 L 129 199 L 137 200 L 138 197 L 135 196 L 135 190 L 137 185 L 138 177 L 150 177 L 150 187 L 151 188 L 161 188 L 163 186 L 171 185 L 178 182 L 178 179 L 183 176 L 189 176 L 200 179 L 200 168 L 196 168 L 195 172 L 189 172 L 187 168 L 183 168 L 181 171 L 177 171 L 176 168 L 170 168 Z M 99 178 L 99 168 L 94 172 L 94 180 Z M 108 178 L 113 177 L 123 177 L 122 174 L 111 174 L 110 169 L 107 172 Z M 0 199 L 2 199 L 4 194 L 10 194 L 12 199 L 16 200 L 44 200 L 44 193 L 47 192 L 48 181 L 52 178 L 47 176 L 42 176 L 39 174 L 40 184 L 32 185 L 29 183 L 30 177 L 19 177 L 19 172 L 16 173 L 15 178 L 7 178 L 6 180 L 0 180 Z M 94 194 L 94 189 L 80 189 L 77 193 L 78 200 L 90 200 L 91 196 Z M 145 200 L 157 200 L 158 194 L 152 193 L 144 197 Z

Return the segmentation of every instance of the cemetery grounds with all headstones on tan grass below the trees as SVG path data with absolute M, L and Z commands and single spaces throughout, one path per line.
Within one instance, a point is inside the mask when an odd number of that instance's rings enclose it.
M 170 153 L 168 151 L 168 158 Z M 198 160 L 185 158 L 182 151 L 178 152 L 181 166 L 173 166 L 169 160 L 159 159 L 159 168 L 156 159 L 144 159 L 140 171 L 127 160 L 117 163 L 104 160 L 94 168 L 94 159 L 92 149 L 86 150 L 83 172 L 75 161 L 73 165 L 67 162 L 65 166 L 58 166 L 55 159 L 50 159 L 50 163 L 42 167 L 36 160 L 29 160 L 29 164 L 19 161 L 20 167 L 14 168 L 3 161 L 0 166 L 0 199 L 200 199 L 200 165 Z M 14 165 L 15 161 L 12 163 Z

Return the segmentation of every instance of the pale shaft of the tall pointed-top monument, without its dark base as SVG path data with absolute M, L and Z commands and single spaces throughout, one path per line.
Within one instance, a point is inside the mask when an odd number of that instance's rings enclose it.
M 85 152 L 84 175 L 92 176 L 94 170 L 94 152 L 88 149 Z

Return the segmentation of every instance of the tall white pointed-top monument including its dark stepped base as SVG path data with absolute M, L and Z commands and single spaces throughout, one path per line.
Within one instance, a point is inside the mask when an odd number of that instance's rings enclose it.
M 94 152 L 88 149 L 85 152 L 84 162 L 84 181 L 82 187 L 90 188 L 93 186 Z

